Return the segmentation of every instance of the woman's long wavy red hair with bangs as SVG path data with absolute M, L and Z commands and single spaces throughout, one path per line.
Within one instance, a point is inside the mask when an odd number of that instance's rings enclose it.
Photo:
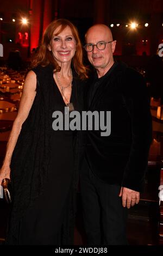
M 87 68 L 83 64 L 83 48 L 79 39 L 79 34 L 77 28 L 66 19 L 59 19 L 51 22 L 45 30 L 45 33 L 42 38 L 42 43 L 39 47 L 39 50 L 35 53 L 32 60 L 32 67 L 34 68 L 37 65 L 47 66 L 48 64 L 52 64 L 54 68 L 54 72 L 59 72 L 61 67 L 58 65 L 56 60 L 54 59 L 52 52 L 48 50 L 48 45 L 51 44 L 52 36 L 59 26 L 58 33 L 61 33 L 67 26 L 70 27 L 72 31 L 72 35 L 76 40 L 76 53 L 72 58 L 72 64 L 74 69 L 76 70 L 79 78 L 85 79 L 87 78 Z M 57 35 L 56 34 L 56 35 Z

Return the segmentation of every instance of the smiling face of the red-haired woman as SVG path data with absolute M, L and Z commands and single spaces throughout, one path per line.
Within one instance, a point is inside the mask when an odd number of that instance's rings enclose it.
M 70 27 L 66 27 L 58 35 L 60 26 L 53 32 L 52 40 L 48 50 L 52 51 L 53 57 L 58 63 L 70 62 L 76 52 L 76 40 L 72 35 Z

